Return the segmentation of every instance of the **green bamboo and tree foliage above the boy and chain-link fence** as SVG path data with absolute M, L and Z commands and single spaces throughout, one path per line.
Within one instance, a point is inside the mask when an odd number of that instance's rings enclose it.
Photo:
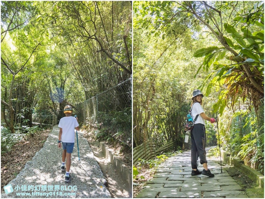
M 1 1 L 1 113 L 32 125 L 132 74 L 132 3 Z

